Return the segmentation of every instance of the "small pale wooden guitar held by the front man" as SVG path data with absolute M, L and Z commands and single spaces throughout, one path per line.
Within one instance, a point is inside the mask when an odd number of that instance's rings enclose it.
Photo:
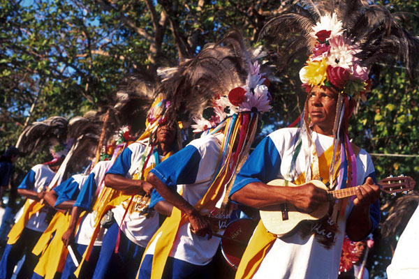
M 310 181 L 314 186 L 328 190 L 325 184 L 319 180 Z M 289 181 L 284 179 L 275 179 L 267 183 L 270 186 L 278 187 L 296 187 Z M 415 187 L 416 182 L 409 176 L 397 176 L 381 179 L 377 183 L 380 190 L 387 194 L 395 195 L 399 192 L 407 193 Z M 360 186 L 344 188 L 340 190 L 328 190 L 328 198 L 330 201 L 343 199 L 356 195 L 356 190 Z M 266 206 L 260 209 L 260 219 L 268 232 L 276 234 L 278 237 L 284 236 L 293 231 L 293 229 L 303 220 L 318 220 L 323 218 L 329 211 L 329 202 L 325 202 L 311 213 L 299 211 L 292 204 L 276 204 L 274 206 Z

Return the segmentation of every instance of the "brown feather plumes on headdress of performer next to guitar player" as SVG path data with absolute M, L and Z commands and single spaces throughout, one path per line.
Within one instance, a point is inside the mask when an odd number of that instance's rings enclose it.
M 231 31 L 218 43 L 205 45 L 193 59 L 172 68 L 157 89 L 156 94 L 170 100 L 168 117 L 200 119 L 203 110 L 213 107 L 217 98 L 247 84 L 258 55 L 260 50 L 253 52 L 237 31 Z

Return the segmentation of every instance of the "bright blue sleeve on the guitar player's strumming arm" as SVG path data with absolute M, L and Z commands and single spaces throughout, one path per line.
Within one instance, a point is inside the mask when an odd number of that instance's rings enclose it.
M 252 182 L 268 183 L 277 178 L 281 157 L 270 137 L 265 137 L 237 174 L 230 196 Z

